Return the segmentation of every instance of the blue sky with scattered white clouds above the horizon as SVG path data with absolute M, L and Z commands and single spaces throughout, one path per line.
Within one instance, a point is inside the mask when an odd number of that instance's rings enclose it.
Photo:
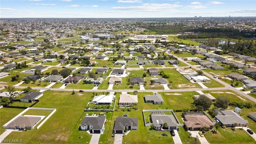
M 255 16 L 256 0 L 1 0 L 0 18 Z

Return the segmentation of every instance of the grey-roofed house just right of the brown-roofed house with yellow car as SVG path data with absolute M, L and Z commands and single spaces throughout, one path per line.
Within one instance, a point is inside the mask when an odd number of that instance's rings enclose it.
M 217 116 L 215 116 L 216 122 L 224 125 L 226 127 L 234 126 L 234 123 L 237 123 L 237 126 L 247 126 L 248 122 L 244 120 L 239 114 L 233 110 L 221 110 Z

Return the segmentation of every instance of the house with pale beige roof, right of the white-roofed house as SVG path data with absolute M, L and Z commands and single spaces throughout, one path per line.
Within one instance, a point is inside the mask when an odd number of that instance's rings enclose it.
M 138 103 L 137 95 L 130 95 L 127 93 L 121 94 L 119 98 L 120 108 L 130 108 L 132 104 Z

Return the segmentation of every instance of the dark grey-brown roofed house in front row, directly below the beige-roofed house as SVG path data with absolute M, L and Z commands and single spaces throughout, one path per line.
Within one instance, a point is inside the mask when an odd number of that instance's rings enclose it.
M 138 118 L 116 118 L 114 124 L 114 133 L 123 134 L 125 130 L 137 130 L 138 129 Z

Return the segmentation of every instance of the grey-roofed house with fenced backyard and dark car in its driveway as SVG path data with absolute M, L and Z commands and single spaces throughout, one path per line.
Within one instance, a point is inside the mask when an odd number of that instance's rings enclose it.
M 163 128 L 164 124 L 167 124 L 168 130 L 177 130 L 178 124 L 173 115 L 155 115 L 151 114 L 152 123 L 155 130 L 160 130 Z

